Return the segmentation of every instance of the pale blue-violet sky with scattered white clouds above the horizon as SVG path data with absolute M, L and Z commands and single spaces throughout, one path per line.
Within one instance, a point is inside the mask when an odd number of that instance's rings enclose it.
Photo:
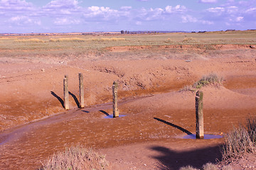
M 256 29 L 256 0 L 0 0 L 0 33 Z

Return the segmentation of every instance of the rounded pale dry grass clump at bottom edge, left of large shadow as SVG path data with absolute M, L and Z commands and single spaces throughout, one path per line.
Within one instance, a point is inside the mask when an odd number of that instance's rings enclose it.
M 105 156 L 97 154 L 93 149 L 87 149 L 80 145 L 66 148 L 65 152 L 53 154 L 40 170 L 59 169 L 106 169 L 108 162 Z

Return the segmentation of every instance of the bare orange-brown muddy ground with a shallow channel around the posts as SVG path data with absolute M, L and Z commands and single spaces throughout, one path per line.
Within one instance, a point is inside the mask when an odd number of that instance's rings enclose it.
M 85 108 L 78 108 L 78 73 Z M 221 160 L 222 139 L 185 140 L 195 133 L 195 93 L 178 91 L 210 73 L 223 86 L 203 87 L 204 126 L 225 134 L 256 113 L 256 51 L 250 45 L 111 47 L 90 57 L 0 58 L 0 169 L 37 169 L 80 143 L 106 154 L 109 169 L 200 168 Z M 63 108 L 68 74 L 70 111 Z M 112 82 L 119 111 L 112 114 Z M 234 166 L 235 167 L 235 166 Z M 239 168 L 238 168 L 239 169 Z

